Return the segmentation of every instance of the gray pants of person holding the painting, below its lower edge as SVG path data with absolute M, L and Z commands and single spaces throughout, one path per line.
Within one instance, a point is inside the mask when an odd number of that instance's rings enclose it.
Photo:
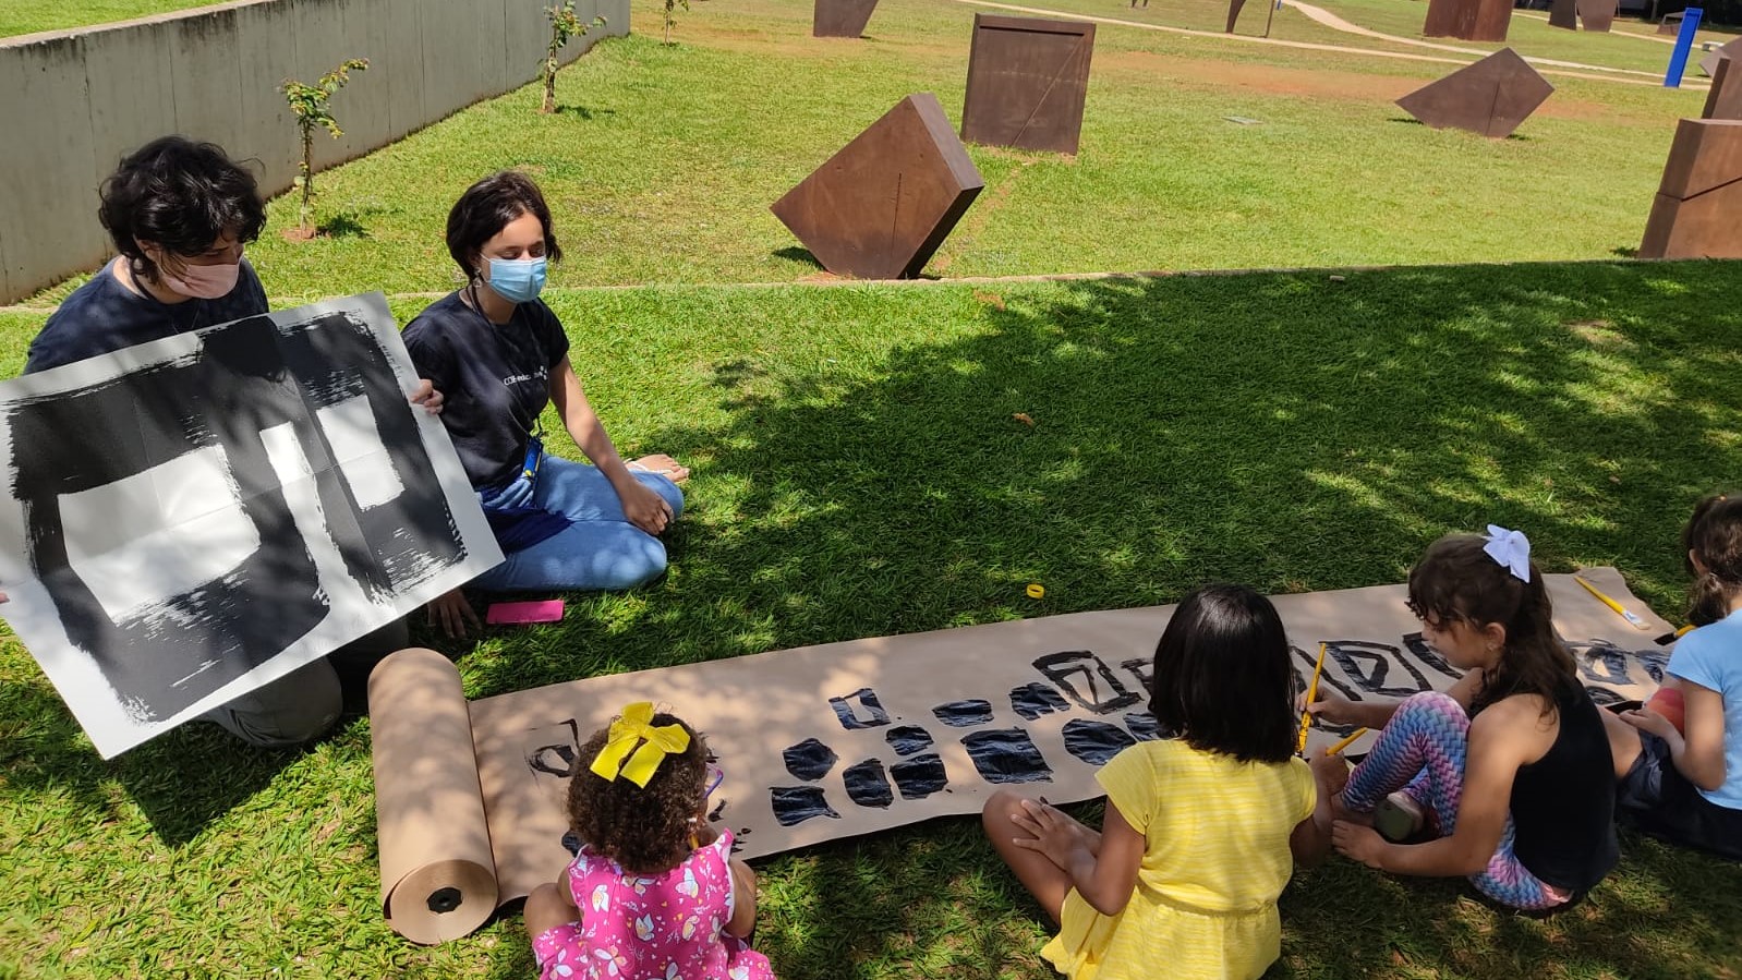
M 380 660 L 409 641 L 406 621 L 395 620 L 331 656 Z M 321 658 L 200 717 L 258 748 L 287 748 L 324 735 L 343 705 L 338 674 L 327 658 Z

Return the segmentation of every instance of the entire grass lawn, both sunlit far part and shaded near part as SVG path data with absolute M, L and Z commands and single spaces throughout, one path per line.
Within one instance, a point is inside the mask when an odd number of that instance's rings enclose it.
M 451 200 L 524 167 L 557 212 L 549 298 L 594 404 L 625 453 L 695 468 L 662 581 L 462 644 L 418 625 L 460 654 L 467 695 L 1172 602 L 1207 580 L 1390 583 L 1489 520 L 1526 529 L 1545 569 L 1615 564 L 1679 616 L 1681 520 L 1742 472 L 1742 270 L 1613 254 L 1700 96 L 1556 78 L 1489 143 L 1390 104 L 1449 66 L 1108 26 L 1084 151 L 974 148 L 988 190 L 934 275 L 1406 265 L 815 285 L 766 205 L 908 92 L 955 115 L 976 9 L 883 0 L 871 40 L 814 42 L 803 0 L 721 0 L 679 10 L 672 49 L 650 10 L 563 71 L 563 113 L 537 115 L 531 87 L 458 113 L 321 174 L 321 219 L 347 233 L 291 245 L 279 200 L 253 249 L 284 303 L 385 289 L 404 322 L 427 301 L 408 294 L 453 285 Z M 1496 259 L 1536 261 L 1420 265 Z M 0 376 L 66 289 L 0 310 Z M 362 707 L 301 752 L 193 724 L 101 762 L 0 641 L 0 980 L 531 977 L 512 912 L 434 949 L 381 921 Z M 1272 975 L 1742 971 L 1742 869 L 1624 851 L 1545 923 L 1334 860 L 1284 895 Z M 758 943 L 784 978 L 1049 977 L 1038 910 L 974 820 L 758 872 Z

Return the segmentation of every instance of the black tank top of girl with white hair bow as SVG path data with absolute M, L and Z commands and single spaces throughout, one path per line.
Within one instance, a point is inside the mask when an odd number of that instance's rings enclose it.
M 1561 733 L 1512 780 L 1512 853 L 1542 881 L 1585 891 L 1615 867 L 1615 762 L 1583 688 L 1556 698 Z

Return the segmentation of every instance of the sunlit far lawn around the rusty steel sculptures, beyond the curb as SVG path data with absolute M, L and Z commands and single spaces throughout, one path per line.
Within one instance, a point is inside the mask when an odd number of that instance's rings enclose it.
M 697 3 L 674 47 L 641 12 L 639 37 L 559 75 L 564 111 L 540 115 L 526 87 L 324 172 L 317 221 L 333 235 L 282 240 L 296 209 L 279 200 L 256 263 L 284 298 L 451 289 L 448 207 L 521 167 L 568 245 L 561 285 L 814 277 L 768 205 L 909 92 L 958 118 L 974 10 L 885 0 L 871 38 L 850 42 L 810 38 L 798 0 Z M 1639 244 L 1697 92 L 1557 78 L 1514 139 L 1489 141 L 1392 104 L 1449 70 L 1106 26 L 1082 151 L 972 148 L 986 190 L 928 273 L 1594 259 Z

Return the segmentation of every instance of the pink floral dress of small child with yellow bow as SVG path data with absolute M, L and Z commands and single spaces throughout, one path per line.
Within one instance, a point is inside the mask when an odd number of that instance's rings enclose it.
M 542 980 L 773 980 L 768 957 L 725 931 L 732 830 L 641 877 L 582 846 L 568 865 L 580 921 L 533 940 Z

